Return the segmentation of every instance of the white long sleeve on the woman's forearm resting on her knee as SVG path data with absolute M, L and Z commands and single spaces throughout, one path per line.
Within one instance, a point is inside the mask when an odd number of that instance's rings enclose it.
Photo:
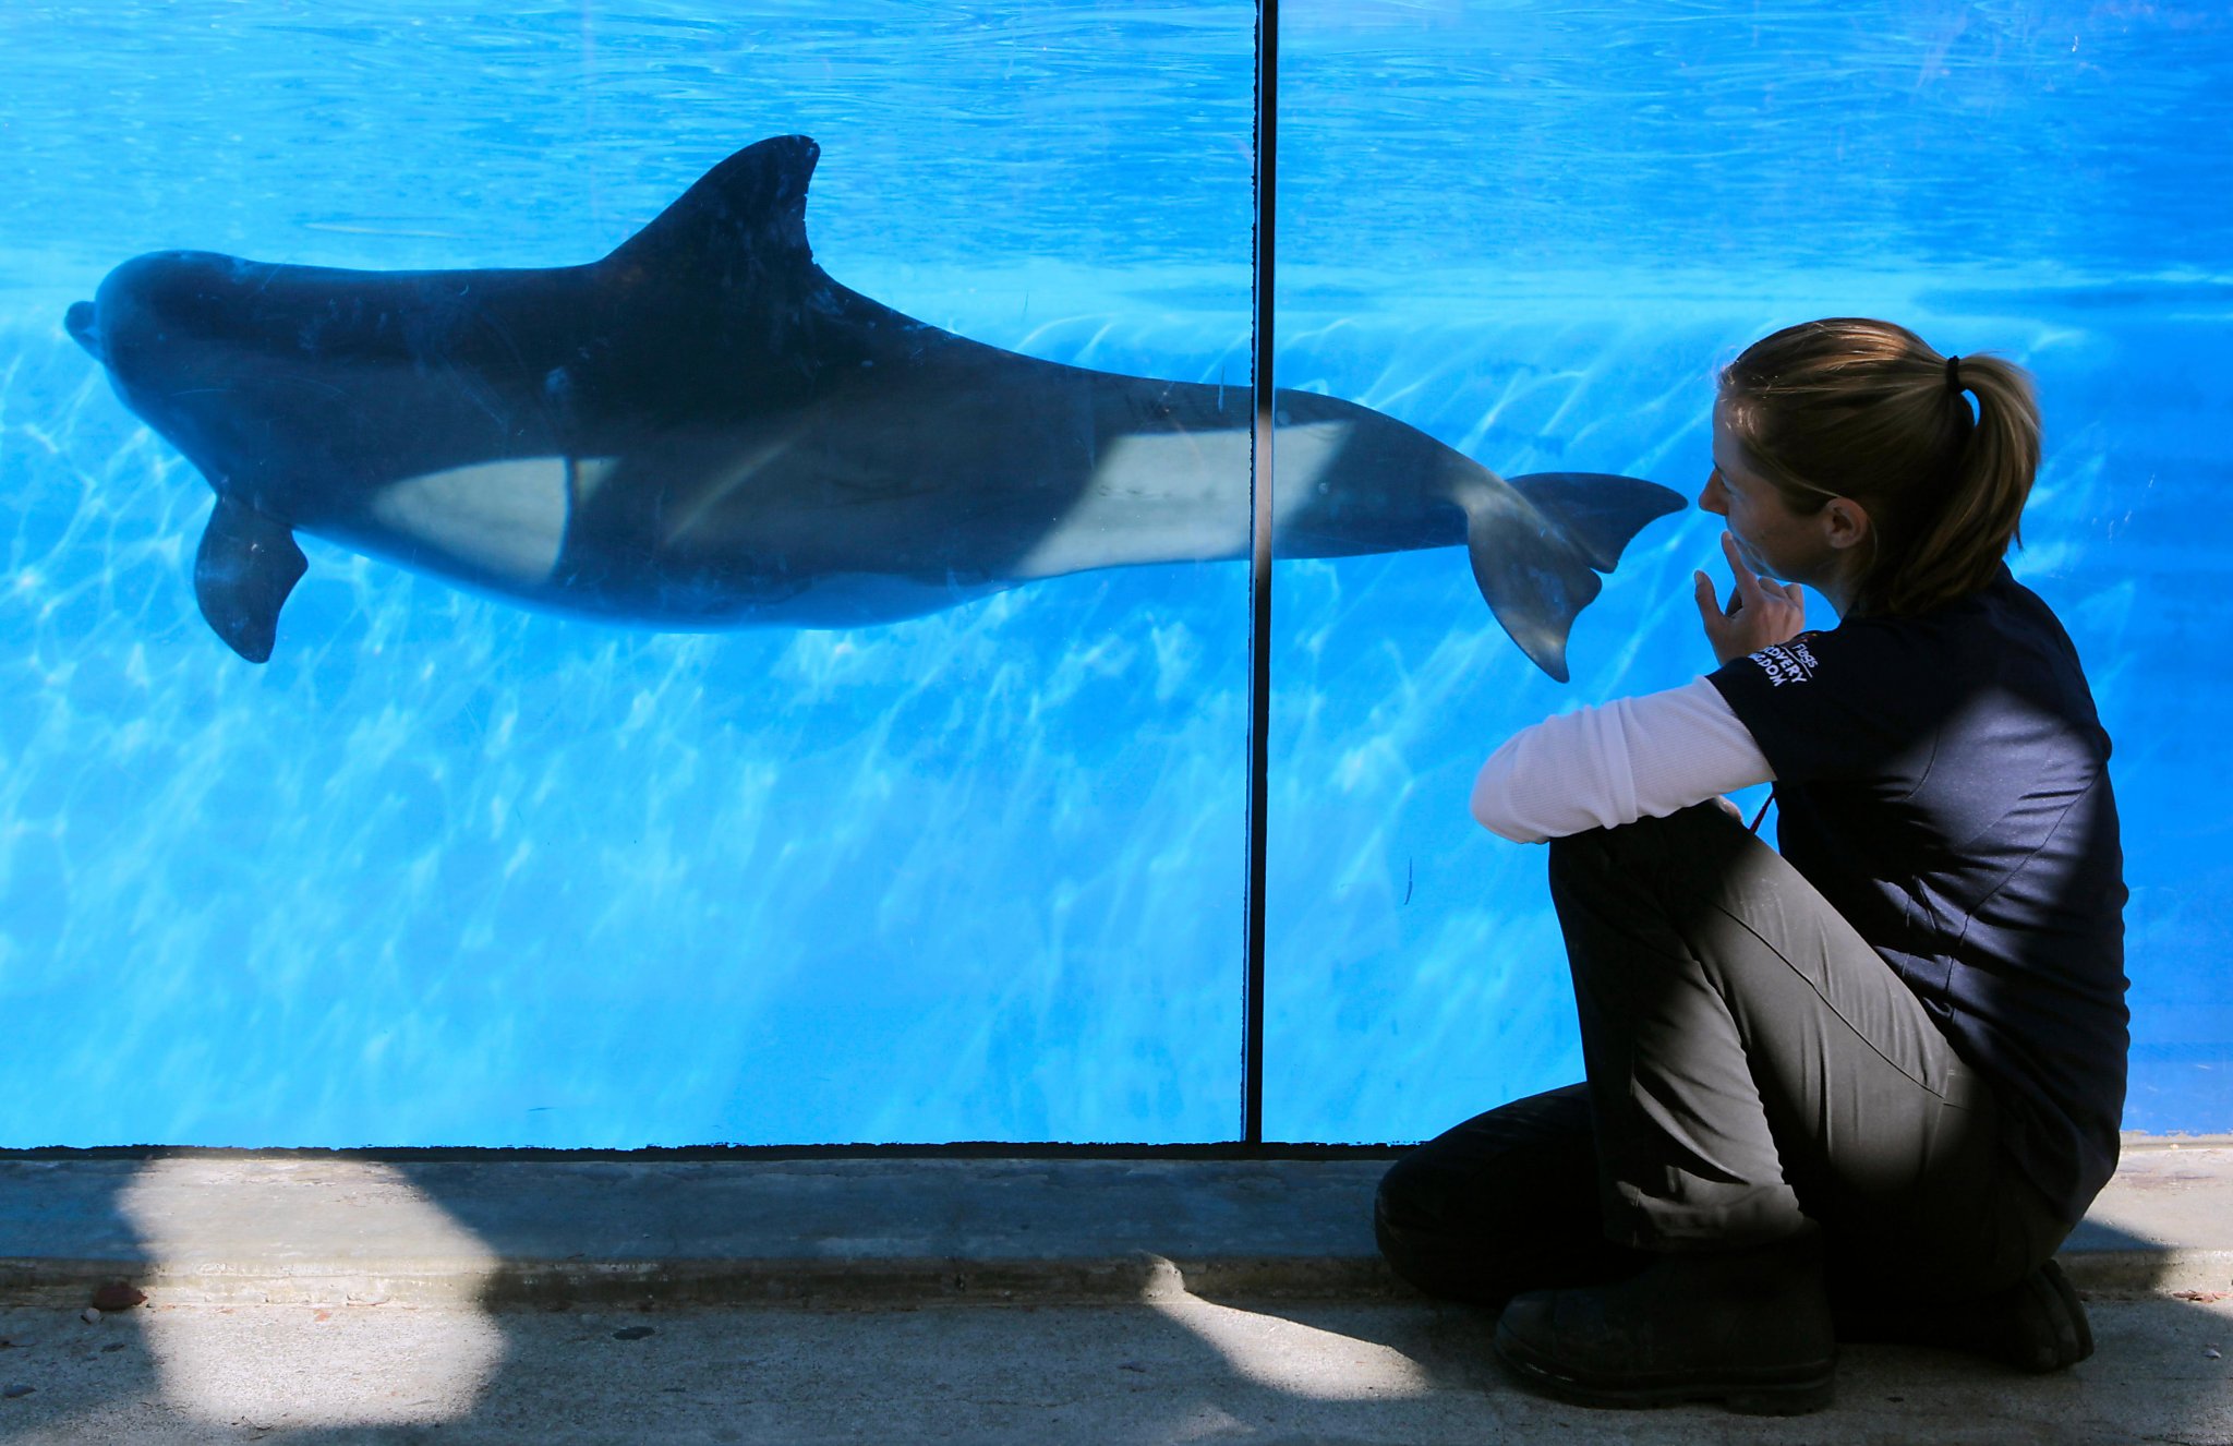
M 1773 778 L 1722 693 L 1697 677 L 1521 729 L 1480 764 L 1474 818 L 1514 843 L 1543 843 L 1666 818 Z

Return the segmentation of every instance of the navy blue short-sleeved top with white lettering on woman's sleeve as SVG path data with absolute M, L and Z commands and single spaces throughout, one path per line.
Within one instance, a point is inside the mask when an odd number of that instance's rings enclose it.
M 1713 675 L 1775 769 L 1784 858 L 1992 1082 L 2072 1223 L 2117 1169 L 2128 1012 L 2108 733 L 2077 648 L 2007 570 Z

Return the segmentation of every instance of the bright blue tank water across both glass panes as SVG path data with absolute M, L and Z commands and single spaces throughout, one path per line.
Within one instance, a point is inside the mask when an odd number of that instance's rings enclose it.
M 853 11 L 851 16 L 846 11 Z M 1690 489 L 1710 375 L 1885 313 L 2034 367 L 2019 574 L 2117 738 L 2135 1129 L 2233 1129 L 2233 25 L 2220 7 L 1284 7 L 1280 382 L 1498 472 Z M 0 9 L 0 1144 L 1237 1131 L 1246 574 L 650 635 L 306 539 L 266 668 L 208 487 L 63 308 L 194 246 L 601 255 L 737 145 L 817 259 L 985 342 L 1248 380 L 1244 4 Z M 1235 487 L 1246 487 L 1237 476 Z M 1536 673 L 1436 550 L 1275 577 L 1266 1129 L 1574 1077 L 1514 726 L 1706 664 L 1699 516 Z

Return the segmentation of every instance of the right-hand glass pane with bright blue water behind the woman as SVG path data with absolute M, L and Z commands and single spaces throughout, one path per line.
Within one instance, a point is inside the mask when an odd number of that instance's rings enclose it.
M 1282 20 L 1282 387 L 1507 476 L 1695 498 L 1715 369 L 1791 322 L 1885 315 L 2036 373 L 2045 465 L 2010 561 L 2117 746 L 2126 1124 L 2233 1129 L 2233 668 L 2208 641 L 2233 550 L 2233 16 L 1286 0 Z M 1463 552 L 1280 572 L 1271 1138 L 1418 1140 L 1581 1077 L 1543 852 L 1478 829 L 1467 789 L 1547 713 L 1710 670 L 1690 570 L 1722 572 L 1717 534 L 1695 507 L 1637 534 L 1574 626 L 1570 686 L 1485 615 Z

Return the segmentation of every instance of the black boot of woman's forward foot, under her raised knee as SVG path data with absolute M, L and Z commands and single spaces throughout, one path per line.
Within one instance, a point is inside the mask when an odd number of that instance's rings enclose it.
M 1630 1281 L 1527 1292 L 1498 1319 L 1496 1354 L 1583 1406 L 1820 1410 L 1838 1359 L 1820 1243 L 1668 1254 Z

